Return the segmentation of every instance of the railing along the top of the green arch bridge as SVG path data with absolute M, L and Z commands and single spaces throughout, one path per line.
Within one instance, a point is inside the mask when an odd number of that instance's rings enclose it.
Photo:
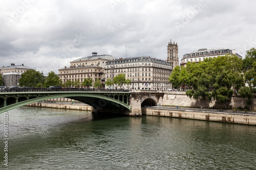
M 5 88 L 0 92 L 41 92 L 41 91 L 92 91 L 92 92 L 130 92 L 127 89 L 102 89 L 102 88 Z

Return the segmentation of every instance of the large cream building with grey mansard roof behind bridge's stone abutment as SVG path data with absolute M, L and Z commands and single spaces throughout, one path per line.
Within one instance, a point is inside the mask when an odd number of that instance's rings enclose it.
M 170 62 L 149 56 L 120 58 L 108 61 L 105 65 L 106 80 L 113 79 L 118 74 L 125 74 L 125 79 L 131 80 L 131 84 L 122 87 L 124 89 L 167 90 L 172 88 L 168 80 L 171 72 Z

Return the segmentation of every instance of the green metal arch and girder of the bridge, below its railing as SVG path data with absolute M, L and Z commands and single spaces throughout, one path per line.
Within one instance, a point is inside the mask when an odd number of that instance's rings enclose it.
M 130 92 L 99 91 L 43 91 L 43 92 L 1 92 L 0 113 L 35 102 L 55 98 L 69 98 L 92 106 L 94 109 L 124 108 L 128 105 Z M 117 99 L 115 99 L 117 98 Z

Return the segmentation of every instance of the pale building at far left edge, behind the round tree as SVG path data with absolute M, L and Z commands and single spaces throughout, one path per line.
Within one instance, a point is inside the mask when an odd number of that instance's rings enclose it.
M 33 68 L 25 66 L 24 64 L 15 65 L 14 63 L 11 63 L 11 66 L 1 67 L 0 74 L 2 74 L 4 79 L 3 85 L 6 87 L 19 85 L 18 80 L 22 78 L 22 74 L 29 69 Z

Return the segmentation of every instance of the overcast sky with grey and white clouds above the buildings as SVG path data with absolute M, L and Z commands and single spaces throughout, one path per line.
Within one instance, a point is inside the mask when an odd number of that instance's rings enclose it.
M 253 0 L 0 1 L 0 67 L 24 64 L 48 74 L 77 58 L 112 55 L 167 59 L 172 39 L 179 63 L 199 48 L 256 47 Z

